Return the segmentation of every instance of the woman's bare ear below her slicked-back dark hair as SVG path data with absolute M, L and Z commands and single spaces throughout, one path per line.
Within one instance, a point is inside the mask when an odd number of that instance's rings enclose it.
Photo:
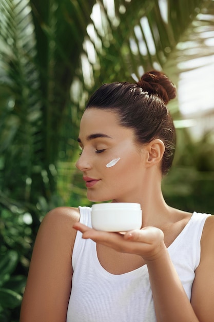
M 154 139 L 146 146 L 146 151 L 146 165 L 148 167 L 160 164 L 165 151 L 164 142 L 160 139 Z

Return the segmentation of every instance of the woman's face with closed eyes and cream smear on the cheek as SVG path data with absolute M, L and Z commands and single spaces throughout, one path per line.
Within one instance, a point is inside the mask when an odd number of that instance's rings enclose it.
M 90 108 L 83 114 L 78 141 L 82 154 L 76 167 L 83 172 L 87 198 L 134 202 L 142 193 L 145 167 L 133 130 L 120 126 L 114 112 Z

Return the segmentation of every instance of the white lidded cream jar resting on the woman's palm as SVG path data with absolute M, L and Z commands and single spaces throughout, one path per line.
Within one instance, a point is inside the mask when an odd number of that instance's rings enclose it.
M 137 203 L 94 204 L 91 210 L 92 227 L 104 231 L 128 231 L 142 226 L 141 205 Z

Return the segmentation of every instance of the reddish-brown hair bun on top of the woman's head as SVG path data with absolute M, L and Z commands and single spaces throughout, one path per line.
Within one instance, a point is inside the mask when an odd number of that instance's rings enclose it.
M 137 84 L 149 94 L 157 94 L 165 104 L 176 97 L 176 86 L 162 73 L 151 70 L 145 73 Z

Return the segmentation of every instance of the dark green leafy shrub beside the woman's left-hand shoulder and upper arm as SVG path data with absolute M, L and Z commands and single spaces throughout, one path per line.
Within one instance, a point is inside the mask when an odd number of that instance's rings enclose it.
M 37 206 L 7 198 L 0 193 L 0 320 L 17 322 L 26 284 L 29 259 L 38 226 L 50 207 L 57 206 L 59 199 L 49 203 L 39 198 Z M 59 205 L 62 202 L 59 201 Z

